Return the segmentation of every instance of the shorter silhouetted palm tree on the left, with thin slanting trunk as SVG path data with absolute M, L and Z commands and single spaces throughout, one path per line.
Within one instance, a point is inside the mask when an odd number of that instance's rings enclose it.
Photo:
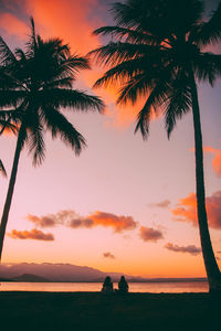
M 60 108 L 102 111 L 104 107 L 98 97 L 72 87 L 77 72 L 90 68 L 88 58 L 72 55 L 70 47 L 60 39 L 43 41 L 35 34 L 33 19 L 31 26 L 24 51 L 17 49 L 13 53 L 0 39 L 0 67 L 3 74 L 0 79 L 0 119 L 11 119 L 19 127 L 0 225 L 0 258 L 23 146 L 27 143 L 33 154 L 33 166 L 41 164 L 45 156 L 43 134 L 49 130 L 52 138 L 60 137 L 75 154 L 80 154 L 86 145 L 85 139 Z

